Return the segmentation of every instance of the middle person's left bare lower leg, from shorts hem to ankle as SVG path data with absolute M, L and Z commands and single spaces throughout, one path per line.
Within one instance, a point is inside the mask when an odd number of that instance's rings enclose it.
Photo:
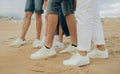
M 52 47 L 57 22 L 58 22 L 58 15 L 48 14 L 48 21 L 47 21 L 48 27 L 47 27 L 47 36 L 46 36 L 45 45 L 49 48 Z

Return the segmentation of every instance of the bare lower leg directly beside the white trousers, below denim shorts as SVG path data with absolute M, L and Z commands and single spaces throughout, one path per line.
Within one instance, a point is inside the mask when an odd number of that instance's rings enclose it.
M 76 21 L 74 14 L 68 14 L 66 16 L 66 21 L 68 24 L 68 29 L 71 36 L 72 44 L 77 45 L 77 30 L 76 30 Z

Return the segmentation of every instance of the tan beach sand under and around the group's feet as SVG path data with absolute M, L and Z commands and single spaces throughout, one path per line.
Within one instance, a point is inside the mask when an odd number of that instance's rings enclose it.
M 39 50 L 33 49 L 31 45 L 35 39 L 34 23 L 27 33 L 27 44 L 21 47 L 10 47 L 10 43 L 19 37 L 21 27 L 20 23 L 0 21 L 0 74 L 120 74 L 119 20 L 106 20 L 103 23 L 110 58 L 91 59 L 91 63 L 84 67 L 64 66 L 62 61 L 70 57 L 68 53 L 58 53 L 44 60 L 29 59 L 31 53 Z M 43 34 L 44 28 L 42 36 Z M 64 41 L 67 46 L 70 39 L 64 38 Z

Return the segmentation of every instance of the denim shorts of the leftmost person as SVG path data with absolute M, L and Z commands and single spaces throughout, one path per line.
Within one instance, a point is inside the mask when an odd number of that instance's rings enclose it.
M 44 0 L 26 0 L 25 12 L 43 13 Z

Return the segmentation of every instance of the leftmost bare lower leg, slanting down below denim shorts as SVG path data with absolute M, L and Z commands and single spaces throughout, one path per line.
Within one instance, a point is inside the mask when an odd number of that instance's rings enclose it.
M 22 26 L 21 39 L 25 39 L 25 35 L 31 23 L 32 12 L 25 12 L 24 24 Z

